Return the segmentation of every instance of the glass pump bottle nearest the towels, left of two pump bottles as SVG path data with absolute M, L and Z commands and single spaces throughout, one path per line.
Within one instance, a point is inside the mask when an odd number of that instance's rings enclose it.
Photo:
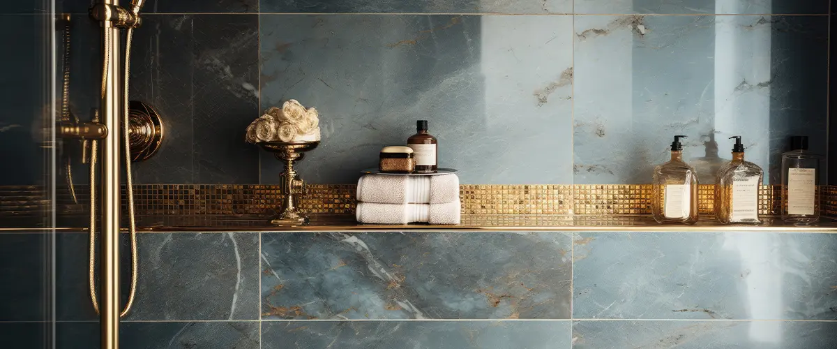
M 683 162 L 683 145 L 675 136 L 671 160 L 654 168 L 651 213 L 657 223 L 697 223 L 697 173 Z

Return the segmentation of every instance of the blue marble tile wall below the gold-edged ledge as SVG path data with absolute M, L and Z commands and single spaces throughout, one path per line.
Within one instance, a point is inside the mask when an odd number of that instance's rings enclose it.
M 58 348 L 96 348 L 87 235 L 55 236 L 54 321 L 44 317 L 44 280 L 27 276 L 44 268 L 48 238 L 0 234 L 0 296 L 14 300 L 0 303 L 0 342 L 51 347 L 39 339 L 54 330 Z M 139 241 L 126 348 L 837 346 L 837 234 L 241 232 Z

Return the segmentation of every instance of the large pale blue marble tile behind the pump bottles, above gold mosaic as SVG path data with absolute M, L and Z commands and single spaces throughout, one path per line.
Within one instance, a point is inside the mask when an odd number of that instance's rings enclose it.
M 740 135 L 747 159 L 780 164 L 788 136 L 826 139 L 827 18 L 593 16 L 575 18 L 576 184 L 646 183 L 684 143 L 701 182 L 730 158 Z M 714 139 L 720 158 L 707 146 Z M 778 182 L 778 173 L 766 181 Z

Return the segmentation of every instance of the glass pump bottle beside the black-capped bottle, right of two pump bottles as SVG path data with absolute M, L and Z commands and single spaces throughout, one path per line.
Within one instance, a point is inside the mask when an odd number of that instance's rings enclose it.
M 758 187 L 764 180 L 764 171 L 758 165 L 744 161 L 741 136 L 732 136 L 732 162 L 727 163 L 716 175 L 715 218 L 721 223 L 761 223 L 758 218 Z

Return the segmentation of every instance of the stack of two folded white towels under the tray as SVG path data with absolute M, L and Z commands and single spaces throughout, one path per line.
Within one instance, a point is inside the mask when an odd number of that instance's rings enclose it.
M 459 224 L 460 177 L 365 175 L 357 182 L 357 222 Z

